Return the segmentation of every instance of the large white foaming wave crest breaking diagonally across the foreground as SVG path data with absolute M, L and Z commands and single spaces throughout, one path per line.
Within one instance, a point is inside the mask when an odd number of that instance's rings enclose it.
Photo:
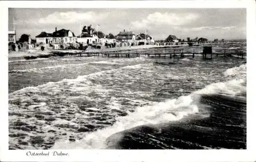
M 214 83 L 205 88 L 195 91 L 187 96 L 181 96 L 177 99 L 168 99 L 153 105 L 138 106 L 135 112 L 128 113 L 124 117 L 117 117 L 116 122 L 109 127 L 81 134 L 80 140 L 70 142 L 69 140 L 56 141 L 51 149 L 105 149 L 108 147 L 106 139 L 112 134 L 130 129 L 139 125 L 160 124 L 169 121 L 182 119 L 189 114 L 199 113 L 200 95 L 204 94 L 222 94 L 235 96 L 246 93 L 246 65 L 227 69 L 226 75 L 236 75 L 238 78 L 232 78 L 224 83 Z M 241 76 L 240 76 L 241 75 Z M 114 138 L 120 139 L 121 134 Z M 115 141 L 114 139 L 114 141 Z M 112 139 L 113 141 L 113 139 Z

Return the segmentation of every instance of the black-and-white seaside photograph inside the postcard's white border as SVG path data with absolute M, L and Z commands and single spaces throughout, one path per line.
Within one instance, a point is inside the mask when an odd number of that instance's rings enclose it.
M 247 32 L 243 7 L 10 7 L 8 150 L 246 150 Z

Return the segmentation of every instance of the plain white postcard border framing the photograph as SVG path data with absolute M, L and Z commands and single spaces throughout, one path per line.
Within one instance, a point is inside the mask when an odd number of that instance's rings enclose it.
M 256 29 L 254 1 L 0 1 L 0 161 L 255 161 L 254 79 Z M 247 8 L 247 150 L 62 150 L 69 156 L 27 156 L 8 150 L 8 8 Z M 36 151 L 36 150 L 35 150 Z M 37 150 L 38 152 L 40 150 Z M 48 151 L 48 150 L 44 150 Z M 53 150 L 49 150 L 52 152 Z M 255 154 L 255 155 L 254 155 Z

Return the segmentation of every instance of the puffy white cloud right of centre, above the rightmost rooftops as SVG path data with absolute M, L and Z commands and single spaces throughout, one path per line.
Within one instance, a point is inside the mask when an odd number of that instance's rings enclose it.
M 140 21 L 133 21 L 132 25 L 134 28 L 145 28 L 149 25 L 184 25 L 195 21 L 199 18 L 198 14 L 194 13 L 160 13 L 155 12 L 149 14 L 146 18 L 141 19 Z

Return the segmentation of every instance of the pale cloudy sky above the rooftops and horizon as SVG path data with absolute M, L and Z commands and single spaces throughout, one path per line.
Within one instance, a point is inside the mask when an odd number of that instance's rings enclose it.
M 13 23 L 13 17 L 16 17 Z M 120 31 L 149 34 L 154 39 L 175 35 L 180 39 L 207 38 L 246 39 L 246 9 L 69 9 L 69 8 L 9 8 L 9 31 L 16 30 L 17 39 L 22 34 L 32 38 L 45 31 L 53 33 L 67 29 L 76 36 L 84 25 L 92 24 L 104 34 L 117 35 Z

